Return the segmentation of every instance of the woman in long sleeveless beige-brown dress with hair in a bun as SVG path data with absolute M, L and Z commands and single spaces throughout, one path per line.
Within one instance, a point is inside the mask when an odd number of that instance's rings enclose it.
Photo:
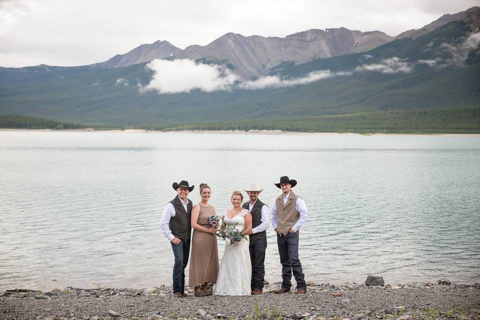
M 200 183 L 201 200 L 191 209 L 191 259 L 188 285 L 195 287 L 195 296 L 211 295 L 208 283 L 216 283 L 218 275 L 218 248 L 216 245 L 216 227 L 208 223 L 215 208 L 208 204 L 210 187 Z

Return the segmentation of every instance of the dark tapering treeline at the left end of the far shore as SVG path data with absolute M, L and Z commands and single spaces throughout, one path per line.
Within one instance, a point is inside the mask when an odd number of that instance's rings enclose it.
M 34 116 L 0 114 L 0 128 L 16 129 L 81 129 L 82 123 L 61 122 Z

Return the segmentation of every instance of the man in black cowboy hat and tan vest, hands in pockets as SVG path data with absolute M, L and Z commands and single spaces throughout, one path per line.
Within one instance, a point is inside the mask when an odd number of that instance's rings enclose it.
M 289 292 L 291 288 L 291 273 L 296 281 L 295 293 L 305 293 L 306 284 L 300 259 L 298 258 L 298 233 L 300 226 L 307 218 L 305 201 L 291 188 L 296 185 L 296 180 L 288 176 L 280 177 L 279 183 L 274 183 L 281 189 L 281 194 L 273 202 L 271 218 L 276 232 L 276 243 L 281 263 L 281 288 L 275 293 Z

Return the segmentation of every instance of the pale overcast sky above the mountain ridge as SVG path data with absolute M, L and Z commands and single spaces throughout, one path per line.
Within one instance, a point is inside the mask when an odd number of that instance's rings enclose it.
M 346 27 L 395 36 L 478 0 L 0 0 L 0 66 L 83 65 L 167 40 Z

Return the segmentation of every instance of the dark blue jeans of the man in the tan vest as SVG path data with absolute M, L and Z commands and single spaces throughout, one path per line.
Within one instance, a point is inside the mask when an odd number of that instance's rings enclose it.
M 277 234 L 276 243 L 281 263 L 281 287 L 290 290 L 293 271 L 296 288 L 306 290 L 305 276 L 298 258 L 298 232 L 288 232 L 287 235 Z

